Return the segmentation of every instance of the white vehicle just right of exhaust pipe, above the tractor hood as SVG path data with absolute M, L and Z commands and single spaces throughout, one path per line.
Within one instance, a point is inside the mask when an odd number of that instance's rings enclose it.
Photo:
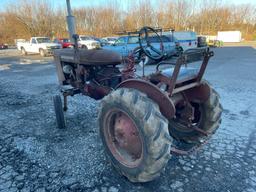
M 79 35 L 78 46 L 83 49 L 98 49 L 101 47 L 100 42 L 95 40 L 94 37 Z

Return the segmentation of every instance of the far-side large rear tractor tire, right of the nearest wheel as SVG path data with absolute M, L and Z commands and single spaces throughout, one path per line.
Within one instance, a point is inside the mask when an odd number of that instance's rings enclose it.
M 195 107 L 195 114 L 197 117 L 197 127 L 206 131 L 209 136 L 186 127 L 184 124 L 179 123 L 179 120 L 169 122 L 170 134 L 179 141 L 184 141 L 190 144 L 198 144 L 205 142 L 212 136 L 221 124 L 222 105 L 219 102 L 219 94 L 209 85 L 208 82 L 203 81 L 210 87 L 210 96 L 206 102 L 191 102 Z

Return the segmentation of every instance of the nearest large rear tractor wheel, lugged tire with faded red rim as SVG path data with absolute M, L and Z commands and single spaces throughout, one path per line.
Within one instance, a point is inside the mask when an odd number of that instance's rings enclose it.
M 106 96 L 99 126 L 112 165 L 132 182 L 157 178 L 170 159 L 168 121 L 144 93 L 120 88 Z

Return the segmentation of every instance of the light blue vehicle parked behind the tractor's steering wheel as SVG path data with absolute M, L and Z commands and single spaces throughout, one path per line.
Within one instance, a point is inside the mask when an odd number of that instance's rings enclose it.
M 154 47 L 159 47 L 161 49 L 159 38 L 156 36 L 149 37 L 150 42 Z M 162 36 L 163 47 L 165 55 L 173 56 L 176 54 L 175 43 L 172 42 L 167 36 Z M 112 45 L 104 46 L 103 49 L 112 50 L 118 52 L 122 57 L 127 57 L 135 48 L 139 47 L 139 37 L 138 36 L 122 36 L 119 37 L 116 42 Z M 150 50 L 149 50 L 150 51 Z M 152 55 L 156 53 L 150 51 Z

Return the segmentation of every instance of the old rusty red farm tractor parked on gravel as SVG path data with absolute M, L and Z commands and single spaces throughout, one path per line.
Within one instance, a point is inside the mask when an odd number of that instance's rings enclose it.
M 74 49 L 54 54 L 64 87 L 64 106 L 59 95 L 53 97 L 58 127 L 65 127 L 67 96 L 101 99 L 98 121 L 103 146 L 113 166 L 132 182 L 155 179 L 171 154 L 194 151 L 221 123 L 219 95 L 202 79 L 213 52 L 190 49 L 176 62 L 168 62 L 163 59 L 164 49 L 152 46 L 151 34 L 162 42 L 153 28 L 143 27 L 138 32 L 140 47 L 126 60 L 108 50 L 78 49 L 76 35 Z M 154 73 L 145 75 L 144 65 L 141 76 L 135 73 L 138 53 L 155 60 Z M 198 59 L 202 63 L 197 71 L 186 67 Z

